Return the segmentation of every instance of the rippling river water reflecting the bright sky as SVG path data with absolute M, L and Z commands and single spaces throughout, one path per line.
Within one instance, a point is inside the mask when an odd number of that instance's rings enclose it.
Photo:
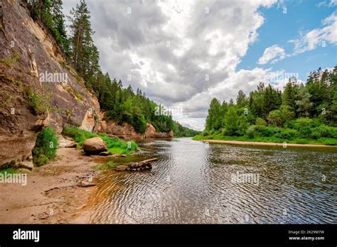
M 90 223 L 337 223 L 337 148 L 156 140 L 129 162 L 146 172 L 102 172 Z

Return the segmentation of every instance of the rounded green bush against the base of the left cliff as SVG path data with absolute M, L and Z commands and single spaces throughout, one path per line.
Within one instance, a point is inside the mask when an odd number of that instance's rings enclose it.
M 32 150 L 34 165 L 41 166 L 48 163 L 50 159 L 55 157 L 57 149 L 58 136 L 56 136 L 53 128 L 47 127 L 36 138 L 36 143 Z

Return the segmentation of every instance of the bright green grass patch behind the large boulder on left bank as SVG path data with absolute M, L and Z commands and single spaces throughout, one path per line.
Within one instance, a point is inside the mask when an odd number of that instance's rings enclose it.
M 90 131 L 83 131 L 76 127 L 64 127 L 63 134 L 74 138 L 79 146 L 82 146 L 88 138 L 100 137 L 107 145 L 109 153 L 128 154 L 134 152 L 138 148 L 134 141 L 129 142 L 130 146 L 128 148 L 128 143 L 121 141 L 118 137 L 109 137 L 105 133 L 91 133 Z

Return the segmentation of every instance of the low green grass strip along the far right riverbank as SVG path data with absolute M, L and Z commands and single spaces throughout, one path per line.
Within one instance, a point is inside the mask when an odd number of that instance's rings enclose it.
M 323 144 L 328 146 L 336 146 L 336 138 L 319 138 L 317 140 L 311 140 L 306 138 L 294 138 L 294 139 L 284 139 L 271 137 L 256 137 L 248 138 L 247 136 L 223 136 L 222 134 L 213 134 L 210 136 L 194 136 L 193 140 L 223 140 L 223 141 L 254 141 L 254 142 L 264 142 L 264 143 L 296 143 L 296 144 Z

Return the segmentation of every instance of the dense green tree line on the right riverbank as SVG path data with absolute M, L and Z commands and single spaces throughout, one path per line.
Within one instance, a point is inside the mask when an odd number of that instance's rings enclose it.
M 337 66 L 311 72 L 304 84 L 292 77 L 283 92 L 260 82 L 248 96 L 240 90 L 236 104 L 212 99 L 203 136 L 305 141 L 337 138 L 336 127 Z

